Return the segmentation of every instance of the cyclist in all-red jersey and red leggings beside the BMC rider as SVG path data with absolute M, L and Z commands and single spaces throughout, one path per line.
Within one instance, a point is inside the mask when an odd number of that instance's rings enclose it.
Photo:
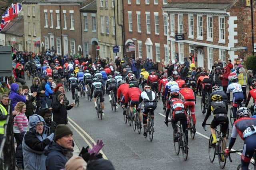
M 188 88 L 186 84 L 182 85 L 180 89 L 180 98 L 183 100 L 185 107 L 190 106 L 191 116 L 193 118 L 194 127 L 196 127 L 196 115 L 195 115 L 195 95 L 191 88 Z M 195 133 L 195 132 L 193 132 Z

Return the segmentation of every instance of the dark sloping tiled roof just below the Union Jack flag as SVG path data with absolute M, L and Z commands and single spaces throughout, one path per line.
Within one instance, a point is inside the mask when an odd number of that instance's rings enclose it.
M 23 16 L 16 16 L 0 33 L 23 36 L 24 35 L 24 18 Z

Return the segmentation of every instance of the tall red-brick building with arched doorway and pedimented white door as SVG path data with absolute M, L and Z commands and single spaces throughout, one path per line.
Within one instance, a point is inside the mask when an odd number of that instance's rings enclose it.
M 162 6 L 167 0 L 124 0 L 124 31 L 128 57 L 169 61 L 168 18 Z M 135 51 L 129 50 L 134 43 Z M 130 44 L 131 45 L 131 44 Z M 132 49 L 133 50 L 133 49 Z

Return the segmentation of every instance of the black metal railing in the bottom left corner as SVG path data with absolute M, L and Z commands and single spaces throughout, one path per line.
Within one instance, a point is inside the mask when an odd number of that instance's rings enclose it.
M 0 144 L 0 170 L 15 170 L 15 164 L 12 108 L 11 100 L 9 100 L 4 136 Z

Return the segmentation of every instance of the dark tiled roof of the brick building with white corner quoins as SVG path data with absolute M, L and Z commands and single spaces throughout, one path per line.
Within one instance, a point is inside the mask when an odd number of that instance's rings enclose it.
M 226 10 L 230 6 L 232 6 L 233 2 L 226 0 L 226 2 L 169 2 L 164 5 L 163 8 L 180 8 L 180 9 L 211 9 L 211 10 Z

